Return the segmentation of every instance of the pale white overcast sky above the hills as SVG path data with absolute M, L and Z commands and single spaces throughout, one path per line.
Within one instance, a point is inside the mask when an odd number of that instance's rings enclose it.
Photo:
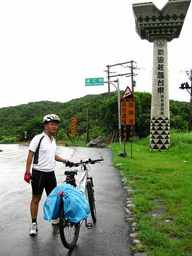
M 48 100 L 67 102 L 108 91 L 86 86 L 85 78 L 104 77 L 106 65 L 136 61 L 135 91 L 151 92 L 153 43 L 135 31 L 133 3 L 141 0 L 0 1 L 0 108 Z M 149 2 L 149 1 L 143 1 Z M 153 0 L 162 9 L 167 0 Z M 168 43 L 169 98 L 189 102 L 179 89 L 192 68 L 192 5 L 180 37 Z M 129 68 L 111 72 L 130 73 Z M 114 73 L 115 74 L 115 73 Z M 131 78 L 119 78 L 120 90 Z M 111 91 L 115 87 L 111 85 Z

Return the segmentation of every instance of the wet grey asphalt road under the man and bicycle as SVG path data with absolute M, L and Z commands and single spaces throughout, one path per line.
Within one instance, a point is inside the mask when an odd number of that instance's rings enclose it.
M 73 250 L 63 247 L 58 226 L 43 218 L 44 192 L 38 211 L 38 234 L 29 236 L 31 225 L 31 185 L 23 180 L 28 145 L 0 145 L 0 255 L 1 256 L 132 256 L 128 223 L 125 218 L 126 192 L 118 172 L 113 167 L 109 148 L 80 148 L 57 146 L 57 153 L 79 162 L 80 159 L 99 159 L 91 166 L 96 191 L 97 223 L 92 230 L 81 226 Z M 58 184 L 64 180 L 64 167 L 56 163 Z M 77 168 L 79 170 L 79 168 Z M 79 175 L 81 172 L 79 170 Z M 91 220 L 89 221 L 91 222 Z

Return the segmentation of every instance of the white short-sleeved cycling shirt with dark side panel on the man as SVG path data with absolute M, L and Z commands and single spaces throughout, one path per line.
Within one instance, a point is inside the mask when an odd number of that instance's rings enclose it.
M 43 172 L 55 171 L 56 141 L 53 137 L 51 143 L 47 134 L 36 135 L 29 145 L 29 150 L 35 153 L 32 164 L 34 169 Z

